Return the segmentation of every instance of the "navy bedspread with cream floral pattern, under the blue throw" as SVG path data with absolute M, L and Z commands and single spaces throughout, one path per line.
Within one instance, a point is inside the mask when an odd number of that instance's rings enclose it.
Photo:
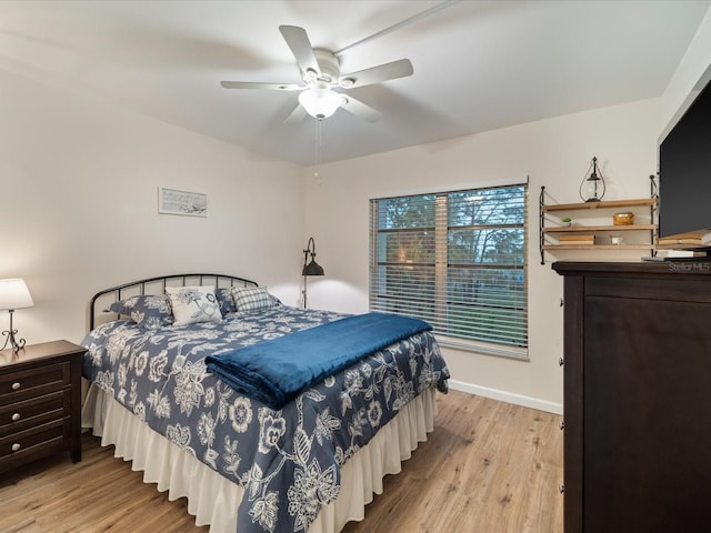
M 340 465 L 420 392 L 447 391 L 449 371 L 433 335 L 392 344 L 279 411 L 237 393 L 207 371 L 204 358 L 340 318 L 279 305 L 158 330 L 117 320 L 83 340 L 83 375 L 244 487 L 240 533 L 306 532 L 338 497 Z

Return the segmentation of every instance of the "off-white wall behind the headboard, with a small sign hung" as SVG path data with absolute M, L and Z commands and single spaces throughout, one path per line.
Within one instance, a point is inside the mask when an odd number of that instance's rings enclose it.
M 300 168 L 7 72 L 0 117 L 0 278 L 34 299 L 14 314 L 28 343 L 81 341 L 94 292 L 164 273 L 242 275 L 297 303 Z M 158 214 L 159 185 L 207 193 L 208 218 Z

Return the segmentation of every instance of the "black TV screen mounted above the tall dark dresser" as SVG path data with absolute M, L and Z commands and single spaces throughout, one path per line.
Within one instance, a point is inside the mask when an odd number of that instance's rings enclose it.
M 711 229 L 711 83 L 659 148 L 659 237 Z

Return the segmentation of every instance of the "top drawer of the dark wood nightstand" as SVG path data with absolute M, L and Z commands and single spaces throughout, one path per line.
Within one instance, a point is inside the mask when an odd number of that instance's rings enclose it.
M 71 384 L 71 364 L 60 361 L 0 374 L 0 405 L 59 391 Z

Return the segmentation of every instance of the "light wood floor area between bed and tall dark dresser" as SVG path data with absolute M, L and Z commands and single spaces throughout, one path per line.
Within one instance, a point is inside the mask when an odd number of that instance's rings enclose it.
M 452 391 L 428 442 L 343 533 L 563 531 L 561 416 Z

